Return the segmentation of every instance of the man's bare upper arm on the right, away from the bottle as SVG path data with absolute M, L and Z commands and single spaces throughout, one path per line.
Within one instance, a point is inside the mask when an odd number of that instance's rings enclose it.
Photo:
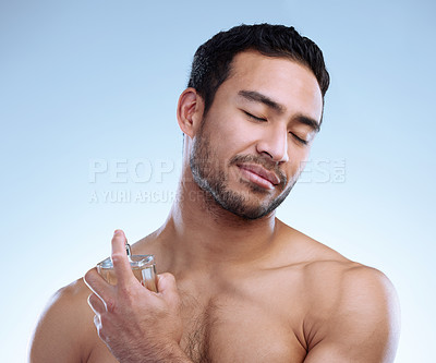
M 354 267 L 343 274 L 337 293 L 304 362 L 393 362 L 399 305 L 390 281 L 378 270 Z

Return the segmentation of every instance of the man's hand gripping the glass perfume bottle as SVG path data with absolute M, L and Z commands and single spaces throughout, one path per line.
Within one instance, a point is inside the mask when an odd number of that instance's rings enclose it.
M 144 288 L 131 270 L 125 243 L 124 233 L 117 230 L 111 255 L 117 286 L 106 282 L 96 268 L 84 278 L 94 292 L 88 303 L 98 336 L 120 362 L 187 361 L 179 347 L 182 320 L 174 277 L 159 275 L 158 293 Z

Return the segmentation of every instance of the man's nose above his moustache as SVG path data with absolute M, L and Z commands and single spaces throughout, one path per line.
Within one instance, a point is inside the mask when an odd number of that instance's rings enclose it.
M 268 155 L 272 161 L 283 162 L 289 160 L 288 130 L 284 125 L 271 126 L 264 130 L 257 142 L 257 153 Z

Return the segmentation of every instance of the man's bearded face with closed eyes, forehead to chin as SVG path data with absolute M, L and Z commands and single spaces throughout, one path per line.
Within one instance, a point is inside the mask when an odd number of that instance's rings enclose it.
M 237 55 L 193 140 L 195 182 L 238 216 L 268 215 L 296 182 L 322 109 L 308 69 L 255 51 Z

